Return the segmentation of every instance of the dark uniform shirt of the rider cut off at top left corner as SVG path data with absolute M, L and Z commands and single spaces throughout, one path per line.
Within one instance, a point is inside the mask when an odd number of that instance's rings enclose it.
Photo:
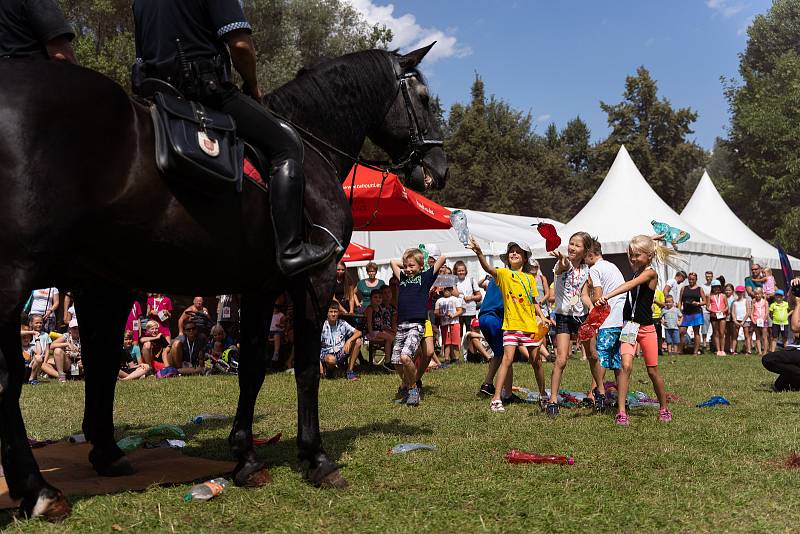
M 0 57 L 49 59 L 47 43 L 75 33 L 56 0 L 0 0 Z

